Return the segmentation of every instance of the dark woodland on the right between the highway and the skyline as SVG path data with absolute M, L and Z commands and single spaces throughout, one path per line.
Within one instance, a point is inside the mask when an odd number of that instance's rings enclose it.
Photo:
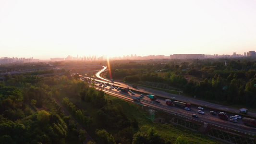
M 230 59 L 227 65 L 224 59 L 113 64 L 111 73 L 113 79 L 165 83 L 200 98 L 249 107 L 256 103 L 254 59 Z

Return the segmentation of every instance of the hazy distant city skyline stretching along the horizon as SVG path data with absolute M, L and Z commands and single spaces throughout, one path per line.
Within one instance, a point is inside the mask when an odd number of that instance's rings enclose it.
M 206 55 L 206 54 L 173 54 L 170 56 L 165 55 L 148 55 L 148 56 L 137 56 L 137 54 L 131 54 L 122 56 L 122 57 L 107 57 L 107 56 L 95 56 L 95 55 L 89 55 L 89 56 L 79 56 L 76 55 L 76 57 L 73 57 L 71 55 L 68 55 L 66 58 L 50 58 L 50 60 L 39 60 L 34 59 L 34 57 L 30 58 L 17 58 L 17 57 L 2 57 L 0 58 L 0 64 L 7 64 L 7 63 L 27 63 L 27 62 L 39 62 L 39 61 L 63 61 L 63 60 L 84 60 L 84 61 L 99 61 L 99 60 L 163 60 L 163 59 L 219 59 L 219 58 L 242 58 L 242 57 L 256 57 L 255 51 L 248 51 L 244 52 L 244 55 L 236 54 L 236 52 L 233 52 L 232 55 Z

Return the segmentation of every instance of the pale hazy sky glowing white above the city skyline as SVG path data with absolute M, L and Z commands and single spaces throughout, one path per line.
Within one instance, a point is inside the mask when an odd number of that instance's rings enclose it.
M 250 50 L 256 0 L 0 0 L 0 58 Z

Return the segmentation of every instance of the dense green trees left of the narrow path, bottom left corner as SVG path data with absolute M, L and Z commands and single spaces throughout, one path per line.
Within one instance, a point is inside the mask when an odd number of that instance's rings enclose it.
M 13 76 L 18 81 L 19 76 Z M 29 79 L 26 79 L 29 78 Z M 77 144 L 85 139 L 85 132 L 76 130 L 65 117 L 52 96 L 55 89 L 44 84 L 28 83 L 31 77 L 19 81 L 29 87 L 6 86 L 0 82 L 0 144 Z M 48 79 L 48 78 L 46 78 Z M 39 110 L 42 109 L 42 110 Z

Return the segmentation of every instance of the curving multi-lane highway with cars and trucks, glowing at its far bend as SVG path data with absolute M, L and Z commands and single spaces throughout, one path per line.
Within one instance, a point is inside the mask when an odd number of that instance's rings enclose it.
M 100 73 L 105 71 L 106 69 L 107 69 L 107 67 L 104 67 L 102 70 L 100 70 L 99 72 L 96 73 L 96 76 L 98 77 L 98 79 L 95 81 L 97 81 L 99 83 L 106 83 L 107 87 L 98 86 L 98 84 L 96 84 L 95 88 L 97 88 L 98 90 L 103 90 L 104 92 L 109 93 L 110 95 L 122 97 L 124 99 L 133 101 L 133 99 L 131 98 L 132 94 L 130 92 L 128 92 L 128 93 L 119 92 L 117 89 L 110 90 L 110 85 L 113 85 L 113 87 L 124 87 L 124 88 L 130 87 L 130 88 L 132 88 L 132 84 L 124 84 L 124 83 L 117 83 L 117 82 L 111 83 L 110 80 L 100 77 Z M 199 116 L 199 118 L 198 119 L 193 118 L 193 119 L 202 120 L 202 121 L 220 125 L 223 127 L 228 127 L 228 128 L 232 128 L 235 130 L 256 134 L 256 128 L 245 126 L 242 122 L 242 119 L 238 119 L 237 120 L 238 123 L 232 123 L 228 120 L 220 120 L 218 117 L 218 113 L 221 110 L 238 112 L 238 109 L 229 108 L 229 107 L 221 106 L 218 104 L 205 102 L 202 100 L 198 100 L 196 98 L 191 98 L 191 97 L 186 97 L 186 96 L 181 96 L 181 95 L 173 95 L 173 94 L 169 94 L 167 92 L 150 89 L 150 88 L 146 88 L 146 87 L 142 87 L 142 86 L 140 86 L 134 90 L 136 91 L 136 92 L 134 92 L 135 96 L 139 96 L 140 94 L 154 94 L 157 96 L 164 96 L 164 97 L 168 97 L 168 98 L 175 97 L 176 100 L 186 101 L 186 102 L 201 105 L 201 106 L 207 105 L 207 107 L 206 106 L 204 107 L 203 111 L 205 114 L 202 115 L 202 114 L 198 113 L 198 109 L 195 106 L 192 106 L 191 110 L 187 111 L 184 108 L 167 106 L 165 103 L 165 99 L 161 99 L 159 97 L 158 97 L 158 100 L 160 101 L 160 103 L 157 103 L 156 101 L 151 100 L 150 98 L 146 97 L 146 95 L 141 98 L 140 102 L 137 102 L 139 104 L 162 109 L 162 110 L 165 110 L 165 111 L 168 111 L 171 113 L 175 113 L 175 114 L 179 114 L 179 115 L 183 115 L 183 116 L 186 116 L 189 118 L 192 118 L 191 117 L 192 114 L 196 114 Z M 134 101 L 134 102 L 136 102 L 136 101 Z M 211 111 L 210 108 L 219 109 L 219 111 L 216 111 L 217 115 L 211 115 L 209 113 Z M 252 116 L 256 116 L 256 113 L 254 113 L 254 112 L 250 112 L 249 114 Z M 231 116 L 231 115 L 228 115 L 228 116 Z

